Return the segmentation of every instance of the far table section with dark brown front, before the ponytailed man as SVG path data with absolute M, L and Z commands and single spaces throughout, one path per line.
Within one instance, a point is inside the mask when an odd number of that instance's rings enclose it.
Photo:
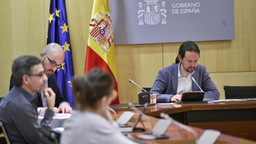
M 127 103 L 113 105 L 111 108 L 114 108 L 117 113 L 133 111 L 127 108 Z M 227 138 L 225 134 L 228 134 L 256 141 L 256 100 L 187 104 L 157 103 L 155 106 L 147 107 L 145 111 L 146 115 L 156 118 L 159 118 L 161 113 L 168 114 L 182 124 L 201 128 L 198 130 L 199 135 L 202 134 L 202 129 L 214 129 L 222 133 L 221 137 Z M 175 127 L 170 129 L 173 131 Z M 172 136 L 172 138 L 176 137 Z

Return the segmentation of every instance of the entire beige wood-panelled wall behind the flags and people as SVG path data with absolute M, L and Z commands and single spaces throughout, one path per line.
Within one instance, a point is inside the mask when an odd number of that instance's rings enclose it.
M 1 0 L 0 97 L 9 90 L 12 61 L 23 54 L 39 55 L 46 44 L 50 0 Z M 93 1 L 66 0 L 75 75 L 84 73 Z M 256 1 L 235 0 L 235 39 L 196 42 L 199 64 L 225 98 L 223 85 L 256 85 Z M 121 103 L 137 102 L 140 89 L 151 87 L 157 73 L 172 63 L 181 43 L 116 45 L 116 67 Z

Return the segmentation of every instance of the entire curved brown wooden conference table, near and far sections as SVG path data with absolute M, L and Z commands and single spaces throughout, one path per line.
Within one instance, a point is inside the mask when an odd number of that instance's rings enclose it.
M 128 125 L 133 125 L 139 113 L 127 106 L 127 103 L 122 103 L 110 107 L 116 111 L 118 117 L 124 111 L 133 111 L 134 116 L 128 123 Z M 188 125 L 196 132 L 198 138 L 201 137 L 205 129 L 214 129 L 221 132 L 215 143 L 250 144 L 256 143 L 255 138 L 252 137 L 252 135 L 256 135 L 255 110 L 256 100 L 190 104 L 161 103 L 147 107 L 145 114 L 152 120 L 154 126 L 158 122 L 160 114 L 165 113 L 181 124 Z M 146 127 L 146 133 L 149 133 L 152 127 L 147 116 L 142 116 L 141 120 Z M 115 118 L 114 114 L 113 118 Z M 61 127 L 63 122 L 65 119 L 53 119 L 52 128 Z M 137 127 L 143 127 L 143 125 L 138 123 Z M 127 133 L 126 137 L 143 143 L 195 143 L 193 133 L 174 123 L 171 123 L 165 133 L 169 137 L 167 139 L 142 140 L 136 137 L 142 133 L 145 132 L 131 132 Z

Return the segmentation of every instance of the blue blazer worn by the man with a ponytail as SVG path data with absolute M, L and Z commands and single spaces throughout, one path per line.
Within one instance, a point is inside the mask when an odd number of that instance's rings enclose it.
M 177 94 L 178 89 L 178 66 L 175 64 L 159 70 L 156 81 L 153 84 L 150 93 L 157 94 L 156 102 L 170 102 L 172 95 Z M 214 100 L 220 99 L 220 93 L 217 87 L 211 80 L 211 77 L 206 71 L 206 68 L 201 65 L 197 65 L 192 77 L 195 78 L 197 84 L 205 92 L 205 98 L 212 98 Z M 192 91 L 201 91 L 199 87 L 192 82 Z

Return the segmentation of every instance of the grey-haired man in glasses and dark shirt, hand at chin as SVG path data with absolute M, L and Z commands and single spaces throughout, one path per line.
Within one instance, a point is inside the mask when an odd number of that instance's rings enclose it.
M 50 133 L 54 115 L 55 93 L 45 89 L 47 76 L 37 57 L 24 55 L 12 65 L 14 87 L 0 103 L 0 121 L 3 122 L 11 143 L 49 143 L 43 133 Z M 38 122 L 36 93 L 43 92 L 47 103 L 44 118 Z

